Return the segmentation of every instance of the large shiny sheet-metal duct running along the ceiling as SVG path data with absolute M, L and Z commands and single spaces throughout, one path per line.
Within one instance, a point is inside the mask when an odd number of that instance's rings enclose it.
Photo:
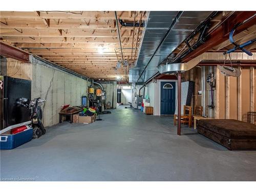
M 151 11 L 138 61 L 136 66 L 130 69 L 129 81 L 143 83 L 150 79 L 158 72 L 156 67 L 159 63 L 210 14 L 210 11 Z M 170 28 L 169 34 L 158 48 Z

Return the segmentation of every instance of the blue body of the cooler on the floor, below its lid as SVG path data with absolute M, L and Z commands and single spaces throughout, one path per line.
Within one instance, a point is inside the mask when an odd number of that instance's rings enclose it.
M 30 141 L 33 137 L 33 128 L 19 132 L 13 135 L 0 135 L 0 148 L 1 150 L 11 150 L 19 145 Z

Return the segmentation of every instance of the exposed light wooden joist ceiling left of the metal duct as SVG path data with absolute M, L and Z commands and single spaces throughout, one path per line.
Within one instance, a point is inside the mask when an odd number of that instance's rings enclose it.
M 118 11 L 125 23 L 144 23 L 145 11 Z M 1 41 L 94 79 L 129 74 L 122 62 L 114 11 L 1 11 Z M 133 65 L 144 27 L 118 22 L 124 60 Z M 126 71 L 126 72 L 125 72 Z M 128 80 L 128 75 L 126 75 Z

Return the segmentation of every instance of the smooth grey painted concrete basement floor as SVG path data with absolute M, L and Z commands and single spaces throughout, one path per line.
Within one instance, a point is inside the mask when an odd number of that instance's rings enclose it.
M 1 179 L 36 181 L 255 181 L 256 151 L 228 151 L 172 117 L 111 110 L 92 124 L 64 122 L 1 151 Z

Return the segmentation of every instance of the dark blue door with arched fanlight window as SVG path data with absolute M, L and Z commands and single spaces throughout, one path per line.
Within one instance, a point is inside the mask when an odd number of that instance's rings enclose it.
M 175 113 L 175 82 L 161 82 L 161 115 Z

